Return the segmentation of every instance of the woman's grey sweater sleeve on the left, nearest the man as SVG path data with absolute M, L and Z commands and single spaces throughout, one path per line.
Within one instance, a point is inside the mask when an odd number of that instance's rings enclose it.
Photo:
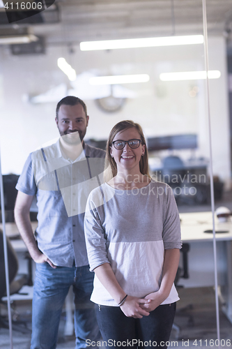
M 104 205 L 101 201 L 100 189 L 94 189 L 88 196 L 84 218 L 84 234 L 91 272 L 96 267 L 109 263 L 106 248 L 107 239 L 100 220 L 100 216 L 104 217 Z

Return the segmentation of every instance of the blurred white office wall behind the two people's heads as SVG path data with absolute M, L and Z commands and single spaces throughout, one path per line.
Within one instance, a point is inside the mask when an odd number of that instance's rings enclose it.
M 49 47 L 45 55 L 12 56 L 8 47 L 0 49 L 0 117 L 3 173 L 19 174 L 29 151 L 59 133 L 54 122 L 56 103 L 32 105 L 26 96 L 45 93 L 68 78 L 56 61 L 65 57 L 77 74 L 94 71 L 99 75 L 148 73 L 150 81 L 127 84 L 137 94 L 120 112 L 106 114 L 95 101 L 85 100 L 90 122 L 86 137 L 104 139 L 116 122 L 133 119 L 147 136 L 197 133 L 196 156 L 209 158 L 206 84 L 201 81 L 161 82 L 160 73 L 203 70 L 203 45 L 150 47 L 144 49 L 81 52 L 68 54 L 65 47 Z M 209 38 L 210 69 L 220 70 L 218 80 L 210 80 L 213 170 L 226 183 L 231 177 L 229 112 L 227 98 L 226 47 L 224 38 Z M 190 91 L 198 87 L 196 97 Z M 99 87 L 100 89 L 101 87 Z M 59 98 L 58 98 L 59 100 Z M 185 154 L 183 156 L 189 156 Z

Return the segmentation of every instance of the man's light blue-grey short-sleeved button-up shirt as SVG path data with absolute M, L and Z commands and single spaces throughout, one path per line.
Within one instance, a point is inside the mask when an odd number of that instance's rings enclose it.
M 88 265 L 84 214 L 88 194 L 103 182 L 105 151 L 84 144 L 71 161 L 61 153 L 59 141 L 29 155 L 17 190 L 36 195 L 40 251 L 60 267 Z

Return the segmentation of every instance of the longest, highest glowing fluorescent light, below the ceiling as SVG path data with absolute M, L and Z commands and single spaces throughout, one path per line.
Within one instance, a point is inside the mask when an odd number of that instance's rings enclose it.
M 194 45 L 200 43 L 203 43 L 203 35 L 164 36 L 162 38 L 85 41 L 80 43 L 80 49 L 82 51 L 114 50 L 119 48 Z

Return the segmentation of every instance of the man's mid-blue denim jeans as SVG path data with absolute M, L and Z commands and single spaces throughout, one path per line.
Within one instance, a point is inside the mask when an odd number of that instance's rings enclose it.
M 56 269 L 48 263 L 36 265 L 31 349 L 56 348 L 61 311 L 70 285 L 75 295 L 75 349 L 86 348 L 86 339 L 99 340 L 94 304 L 89 300 L 93 290 L 93 276 L 88 265 Z

